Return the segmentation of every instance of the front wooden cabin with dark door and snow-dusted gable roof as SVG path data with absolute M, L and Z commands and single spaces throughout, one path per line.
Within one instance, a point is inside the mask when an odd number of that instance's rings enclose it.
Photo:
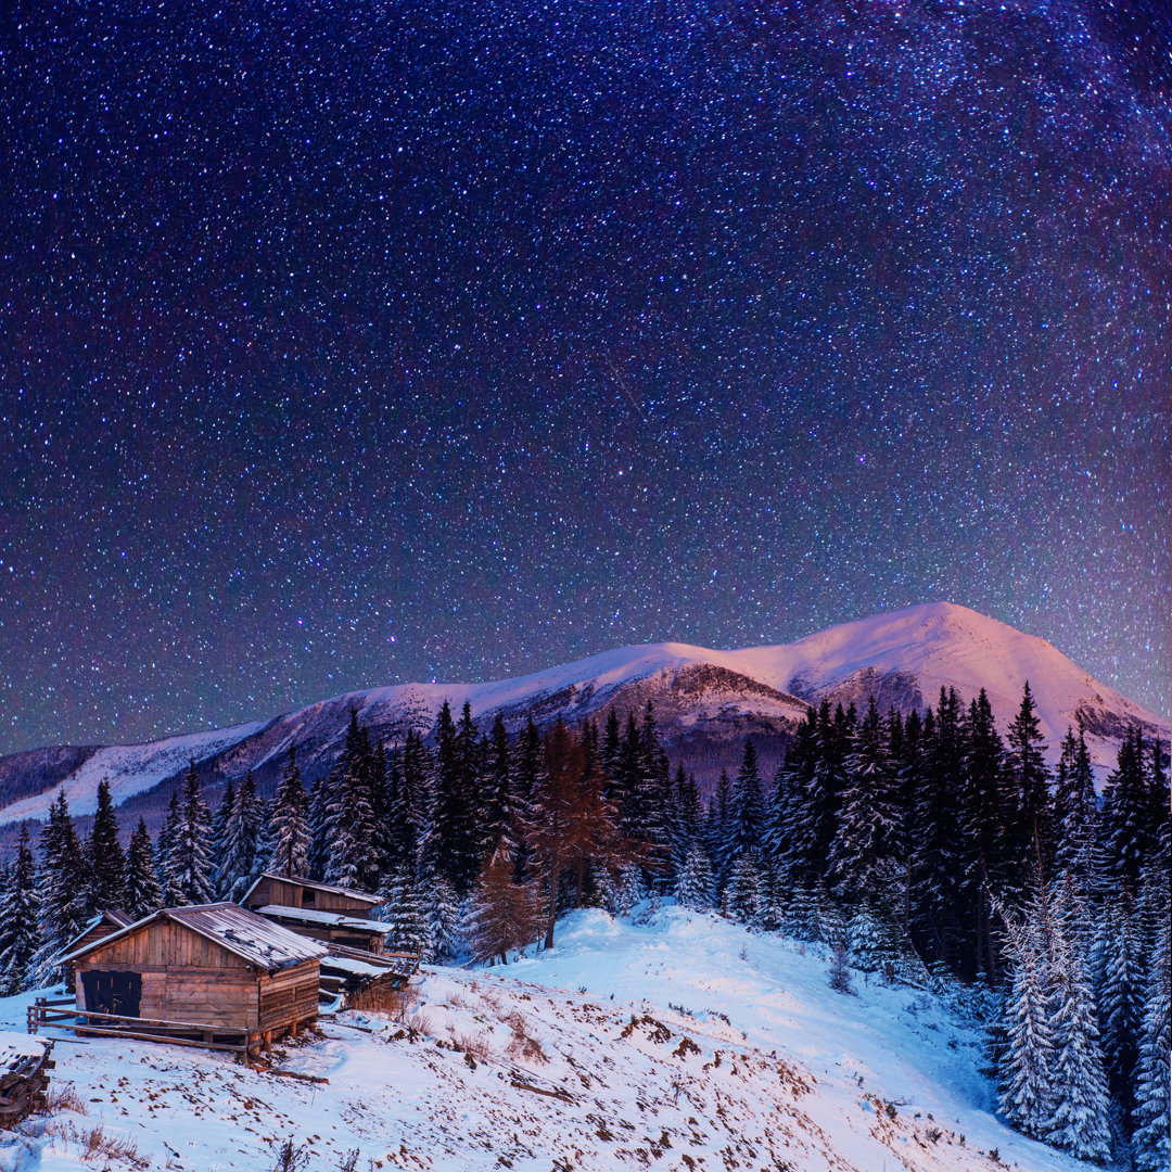
M 325 946 L 236 904 L 168 907 L 95 940 L 73 963 L 77 1010 L 98 1033 L 191 1027 L 252 1048 L 318 1016 Z M 96 1016 L 95 1016 L 96 1015 Z

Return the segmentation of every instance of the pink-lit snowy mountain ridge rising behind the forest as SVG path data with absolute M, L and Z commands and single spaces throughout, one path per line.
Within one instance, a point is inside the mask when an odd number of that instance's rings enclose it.
M 352 708 L 373 735 L 395 741 L 408 729 L 428 735 L 445 700 L 456 715 L 466 701 L 482 724 L 502 713 L 512 730 L 529 714 L 547 725 L 558 717 L 604 717 L 612 708 L 625 715 L 650 701 L 669 755 L 703 777 L 735 765 L 748 734 L 770 768 L 809 706 L 824 696 L 861 706 L 873 693 L 881 708 L 895 704 L 908 711 L 934 703 L 941 687 L 956 688 L 965 701 L 983 687 L 1004 727 L 1027 680 L 1051 757 L 1067 727 L 1079 722 L 1101 771 L 1113 764 L 1129 724 L 1168 738 L 1166 720 L 1095 680 L 1044 639 L 962 606 L 933 602 L 775 647 L 622 647 L 511 680 L 348 693 L 267 722 L 150 744 L 19 754 L 0 758 L 0 824 L 42 818 L 62 788 L 75 813 L 89 813 L 103 776 L 110 778 L 115 800 L 129 804 L 128 813 L 157 810 L 189 757 L 209 783 L 252 769 L 264 785 L 295 744 L 312 781 L 341 751 Z

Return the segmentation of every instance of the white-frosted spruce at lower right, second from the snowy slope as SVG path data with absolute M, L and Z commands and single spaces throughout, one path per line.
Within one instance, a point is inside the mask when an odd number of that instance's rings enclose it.
M 1042 1134 L 1079 1159 L 1102 1161 L 1111 1154 L 1111 1098 L 1081 941 L 1067 933 L 1085 912 L 1081 915 L 1081 900 L 1069 879 L 1063 898 L 1064 914 L 1056 914 L 1051 925 L 1052 1105 Z

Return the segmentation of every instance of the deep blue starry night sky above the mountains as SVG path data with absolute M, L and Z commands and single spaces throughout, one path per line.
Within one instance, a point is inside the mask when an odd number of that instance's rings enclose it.
M 1164 7 L 18 7 L 0 751 L 932 599 L 1167 713 Z

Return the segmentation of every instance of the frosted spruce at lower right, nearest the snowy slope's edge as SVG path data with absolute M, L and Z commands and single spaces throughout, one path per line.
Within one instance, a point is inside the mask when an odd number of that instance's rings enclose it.
M 1050 911 L 1041 885 L 1024 922 L 1006 918 L 1004 935 L 1009 995 L 1000 1106 L 1018 1131 L 1044 1139 L 1054 1118 L 1056 1055 L 1050 1024 Z

